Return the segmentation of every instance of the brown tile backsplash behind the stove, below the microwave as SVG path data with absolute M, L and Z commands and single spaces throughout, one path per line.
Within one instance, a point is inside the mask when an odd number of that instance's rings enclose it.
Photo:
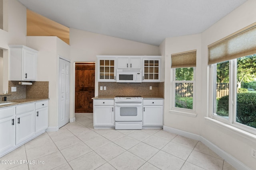
M 106 86 L 106 90 L 100 90 L 100 86 Z M 149 90 L 152 86 L 152 90 Z M 164 82 L 142 82 L 142 83 L 116 83 L 116 82 L 99 82 L 99 96 L 160 96 L 164 97 Z

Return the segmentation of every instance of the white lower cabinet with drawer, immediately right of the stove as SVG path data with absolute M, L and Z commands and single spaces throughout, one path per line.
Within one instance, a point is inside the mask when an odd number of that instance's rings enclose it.
M 142 126 L 163 126 L 163 100 L 143 100 Z

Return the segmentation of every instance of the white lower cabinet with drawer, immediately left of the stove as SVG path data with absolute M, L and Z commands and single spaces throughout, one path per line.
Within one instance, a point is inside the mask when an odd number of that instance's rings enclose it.
M 93 103 L 94 128 L 113 128 L 115 126 L 114 100 L 94 99 Z

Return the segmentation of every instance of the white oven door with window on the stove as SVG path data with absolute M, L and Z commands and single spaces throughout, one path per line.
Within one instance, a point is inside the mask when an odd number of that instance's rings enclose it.
M 116 121 L 142 121 L 141 102 L 119 102 L 115 104 Z

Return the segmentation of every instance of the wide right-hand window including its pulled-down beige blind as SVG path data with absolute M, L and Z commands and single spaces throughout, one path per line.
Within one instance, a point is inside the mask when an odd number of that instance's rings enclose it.
M 256 134 L 256 26 L 209 45 L 211 117 Z M 212 99 L 211 99 L 212 97 Z

